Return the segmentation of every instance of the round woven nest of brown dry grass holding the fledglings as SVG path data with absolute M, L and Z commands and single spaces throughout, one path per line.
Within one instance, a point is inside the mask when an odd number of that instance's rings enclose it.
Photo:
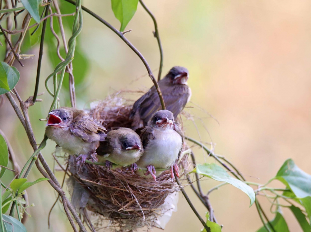
M 93 107 L 91 104 L 89 114 L 102 120 L 107 131 L 116 126 L 130 127 L 130 103 L 118 92 Z M 187 149 L 184 145 L 183 151 Z M 113 225 L 109 227 L 112 231 L 158 227 L 159 216 L 169 210 L 164 207 L 165 199 L 179 191 L 175 180 L 171 179 L 170 170 L 163 171 L 155 182 L 143 175 L 132 174 L 126 167 L 117 166 L 109 170 L 105 166 L 88 163 L 80 167 L 76 165 L 75 157 L 70 157 L 68 164 L 73 177 L 70 184 L 73 187 L 70 191 L 73 205 L 100 215 L 100 220 L 95 223 L 97 228 L 103 226 L 104 220 Z M 183 155 L 178 165 L 180 176 L 189 171 L 188 154 Z

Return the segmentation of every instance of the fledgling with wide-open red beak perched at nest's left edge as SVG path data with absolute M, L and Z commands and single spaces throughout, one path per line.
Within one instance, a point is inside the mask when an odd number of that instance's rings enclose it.
M 83 110 L 61 107 L 49 113 L 46 136 L 70 155 L 79 155 L 77 164 L 84 164 L 100 141 L 105 141 L 106 129 Z

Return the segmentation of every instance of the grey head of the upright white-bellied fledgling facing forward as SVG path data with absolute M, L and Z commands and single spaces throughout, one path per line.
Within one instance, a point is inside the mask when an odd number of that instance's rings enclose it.
M 148 123 L 149 126 L 160 128 L 162 130 L 173 128 L 173 124 L 174 115 L 172 112 L 166 109 L 157 111 Z

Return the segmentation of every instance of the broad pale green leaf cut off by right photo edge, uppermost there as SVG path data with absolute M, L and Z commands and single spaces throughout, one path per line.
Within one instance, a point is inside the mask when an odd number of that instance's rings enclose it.
M 311 197 L 311 175 L 299 169 L 292 159 L 284 162 L 274 179 L 284 183 L 298 198 Z

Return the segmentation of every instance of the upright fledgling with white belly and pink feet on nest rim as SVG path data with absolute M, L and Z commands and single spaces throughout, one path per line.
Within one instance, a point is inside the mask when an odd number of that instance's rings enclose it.
M 169 110 L 159 110 L 149 120 L 148 126 L 141 131 L 144 153 L 138 160 L 138 167 L 146 167 L 145 175 L 151 174 L 156 180 L 155 168 L 171 167 L 173 179 L 175 169 L 177 176 L 178 165 L 176 160 L 183 145 L 183 136 L 179 123 L 175 123 L 173 113 Z

